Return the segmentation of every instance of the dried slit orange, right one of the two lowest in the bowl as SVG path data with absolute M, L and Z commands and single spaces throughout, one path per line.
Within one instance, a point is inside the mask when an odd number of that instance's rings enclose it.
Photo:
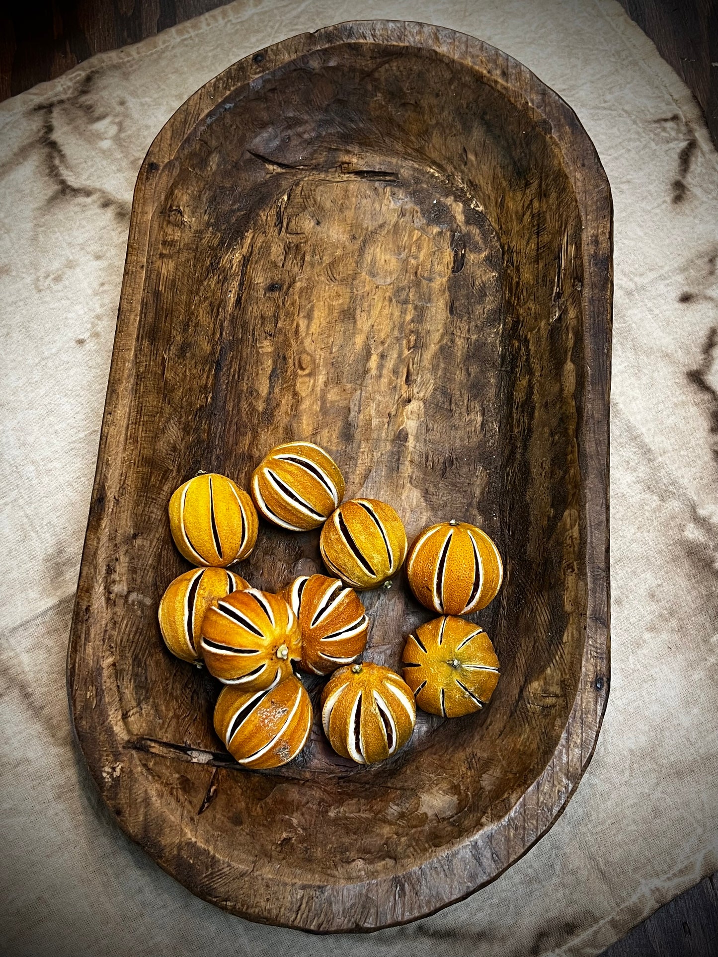
M 411 689 L 382 665 L 340 668 L 322 692 L 322 724 L 329 744 L 360 765 L 395 754 L 412 737 L 415 721 Z

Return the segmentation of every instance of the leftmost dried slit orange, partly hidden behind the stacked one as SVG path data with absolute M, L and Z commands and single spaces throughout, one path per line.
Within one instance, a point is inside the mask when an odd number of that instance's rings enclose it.
M 172 655 L 199 662 L 200 626 L 217 598 L 248 589 L 249 583 L 225 568 L 192 568 L 170 582 L 160 599 L 160 631 Z

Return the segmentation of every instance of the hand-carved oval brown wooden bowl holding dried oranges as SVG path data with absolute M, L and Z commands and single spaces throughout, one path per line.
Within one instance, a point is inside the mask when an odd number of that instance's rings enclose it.
M 479 40 L 423 24 L 306 33 L 207 83 L 147 153 L 132 208 L 68 654 L 79 745 L 123 830 L 195 894 L 314 931 L 412 921 L 549 828 L 609 685 L 611 198 L 572 111 Z M 502 678 L 481 715 L 419 713 L 348 767 L 315 716 L 275 773 L 213 733 L 219 686 L 167 653 L 188 568 L 172 490 L 248 483 L 291 438 L 410 540 L 478 522 L 505 559 L 476 616 Z M 238 572 L 279 590 L 318 532 L 262 526 Z M 403 572 L 365 593 L 367 658 L 432 617 Z M 317 701 L 321 683 L 307 682 Z

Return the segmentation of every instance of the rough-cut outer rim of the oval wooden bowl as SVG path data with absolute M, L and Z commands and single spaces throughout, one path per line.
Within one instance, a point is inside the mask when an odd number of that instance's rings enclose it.
M 276 69 L 297 56 L 352 42 L 414 45 L 452 57 L 482 76 L 482 80 L 512 102 L 532 112 L 546 125 L 564 158 L 578 200 L 583 224 L 582 290 L 583 335 L 588 369 L 586 392 L 579 410 L 579 459 L 585 482 L 588 569 L 587 631 L 578 693 L 553 758 L 541 776 L 505 817 L 467 839 L 459 847 L 407 871 L 400 879 L 378 879 L 341 888 L 313 888 L 299 884 L 276 886 L 257 900 L 217 901 L 203 885 L 201 875 L 179 876 L 174 862 L 156 848 L 142 846 L 172 876 L 191 891 L 252 920 L 303 928 L 315 932 L 369 931 L 404 924 L 427 916 L 474 893 L 496 879 L 522 857 L 564 810 L 594 753 L 610 683 L 609 661 L 609 532 L 608 426 L 612 325 L 612 205 L 609 185 L 595 147 L 572 110 L 522 64 L 482 41 L 443 28 L 396 21 L 346 23 L 317 33 L 305 33 L 246 57 L 202 87 L 168 121 L 147 152 L 134 194 L 127 259 L 112 367 L 102 422 L 98 470 L 82 555 L 79 590 L 67 659 L 67 685 L 74 730 L 103 799 L 119 813 L 112 798 L 112 768 L 132 774 L 139 769 L 139 752 L 127 748 L 120 719 L 119 693 L 112 682 L 95 680 L 114 671 L 112 661 L 97 661 L 88 619 L 101 582 L 97 567 L 104 524 L 105 489 L 113 487 L 118 464 L 108 451 L 119 442 L 128 409 L 127 384 L 133 363 L 139 322 L 140 288 L 129 278 L 146 261 L 149 217 L 158 169 L 168 163 L 200 119 L 236 85 Z M 94 689 L 94 690 L 91 690 Z M 120 769 L 121 768 L 121 769 Z M 167 812 L 155 806 L 158 827 Z M 167 818 L 168 826 L 175 822 Z M 140 835 L 120 825 L 135 840 Z M 270 899 L 271 898 L 271 899 Z M 361 906 L 360 906 L 361 902 Z M 358 918 L 357 914 L 361 913 Z

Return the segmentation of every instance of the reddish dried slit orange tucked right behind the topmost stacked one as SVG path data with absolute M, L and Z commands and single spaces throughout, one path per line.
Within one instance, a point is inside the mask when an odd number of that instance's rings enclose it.
M 328 675 L 367 647 L 369 618 L 357 593 L 326 575 L 303 575 L 281 592 L 299 618 L 304 671 Z

